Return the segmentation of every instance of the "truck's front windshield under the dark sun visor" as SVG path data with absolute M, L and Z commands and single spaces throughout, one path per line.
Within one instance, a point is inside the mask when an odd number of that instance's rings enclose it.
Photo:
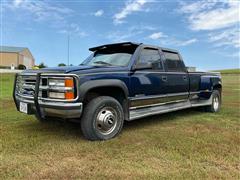
M 81 65 L 89 66 L 127 66 L 130 62 L 133 48 L 105 48 L 92 53 Z

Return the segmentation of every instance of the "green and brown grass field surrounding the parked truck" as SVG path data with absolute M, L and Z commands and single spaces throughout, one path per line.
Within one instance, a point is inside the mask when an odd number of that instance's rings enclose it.
M 219 113 L 183 110 L 125 123 L 105 142 L 78 124 L 41 124 L 16 111 L 0 75 L 0 179 L 239 179 L 240 75 L 223 75 Z

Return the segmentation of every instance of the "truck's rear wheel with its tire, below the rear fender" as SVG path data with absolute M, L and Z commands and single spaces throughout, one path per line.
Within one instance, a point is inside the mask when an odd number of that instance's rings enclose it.
M 220 110 L 221 107 L 221 94 L 219 92 L 219 90 L 213 90 L 212 93 L 212 104 L 209 106 L 205 107 L 205 110 L 207 112 L 218 112 Z

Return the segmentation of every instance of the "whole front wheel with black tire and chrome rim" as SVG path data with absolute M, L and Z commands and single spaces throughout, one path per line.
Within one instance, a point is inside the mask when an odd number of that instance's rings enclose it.
M 121 104 L 109 96 L 92 99 L 84 109 L 81 129 L 88 140 L 108 140 L 118 135 L 123 127 Z

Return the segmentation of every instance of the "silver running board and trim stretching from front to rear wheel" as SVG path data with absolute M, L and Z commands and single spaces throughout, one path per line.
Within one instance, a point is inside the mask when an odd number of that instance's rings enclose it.
M 156 115 L 156 114 L 163 114 L 163 113 L 168 113 L 172 111 L 178 111 L 181 109 L 187 109 L 191 107 L 207 106 L 207 105 L 211 105 L 211 103 L 212 103 L 212 97 L 210 97 L 208 100 L 196 100 L 196 101 L 187 100 L 184 102 L 177 102 L 177 103 L 159 105 L 154 107 L 133 109 L 133 110 L 130 110 L 129 121 L 140 119 L 147 116 Z

